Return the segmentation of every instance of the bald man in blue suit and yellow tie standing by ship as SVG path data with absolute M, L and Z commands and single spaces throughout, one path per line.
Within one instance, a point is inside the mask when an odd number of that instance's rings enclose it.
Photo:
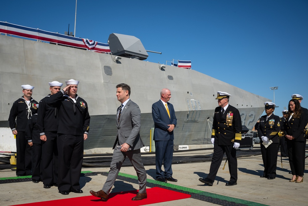
M 156 180 L 160 182 L 177 182 L 172 177 L 173 129 L 176 126 L 176 116 L 173 105 L 168 103 L 171 92 L 168 89 L 160 91 L 160 100 L 152 105 L 154 120 Z M 161 166 L 164 162 L 164 172 Z

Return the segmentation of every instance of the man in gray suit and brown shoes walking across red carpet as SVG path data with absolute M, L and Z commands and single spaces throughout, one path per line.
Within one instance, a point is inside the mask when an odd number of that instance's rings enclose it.
M 115 150 L 112 155 L 106 183 L 98 192 L 91 190 L 90 193 L 95 197 L 102 198 L 103 201 L 107 201 L 109 192 L 127 156 L 137 172 L 139 181 L 139 192 L 132 200 L 143 200 L 147 198 L 147 174 L 140 154 L 140 148 L 144 147 L 144 143 L 139 135 L 141 112 L 138 105 L 129 99 L 131 88 L 127 84 L 118 84 L 116 88 L 116 96 L 118 101 L 121 102 L 121 106 L 118 107 L 116 114 L 118 131 L 112 148 Z

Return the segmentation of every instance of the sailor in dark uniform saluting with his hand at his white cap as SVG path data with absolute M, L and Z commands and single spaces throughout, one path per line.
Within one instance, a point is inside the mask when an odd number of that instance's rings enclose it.
M 79 179 L 83 161 L 83 141 L 87 139 L 90 115 L 87 102 L 77 95 L 79 81 L 65 81 L 66 87 L 51 95 L 47 104 L 57 107 L 58 190 L 63 195 L 83 193 Z M 60 103 L 60 106 L 59 106 Z

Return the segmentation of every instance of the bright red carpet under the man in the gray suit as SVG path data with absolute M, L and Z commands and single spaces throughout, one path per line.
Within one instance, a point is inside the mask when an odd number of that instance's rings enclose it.
M 90 193 L 89 193 L 90 194 Z M 153 204 L 159 202 L 167 202 L 172 200 L 180 200 L 185 198 L 190 198 L 190 195 L 175 192 L 168 189 L 163 189 L 159 187 L 154 187 L 147 189 L 148 198 L 138 201 L 132 201 L 132 198 L 136 196 L 137 191 L 127 191 L 127 192 L 115 192 L 110 193 L 109 199 L 107 202 L 103 202 L 100 198 L 95 196 L 83 196 L 83 197 L 74 197 L 62 200 L 51 200 L 44 202 L 34 202 L 27 204 L 16 204 L 19 206 L 55 206 L 55 205 L 65 205 L 65 206 L 79 206 L 79 205 L 99 205 L 99 206 L 115 206 L 120 205 L 119 203 L 125 203 L 126 206 L 139 206 L 145 204 Z M 68 195 L 69 196 L 69 195 Z M 15 205 L 15 206 L 16 206 Z M 13 206 L 13 205 L 12 205 Z

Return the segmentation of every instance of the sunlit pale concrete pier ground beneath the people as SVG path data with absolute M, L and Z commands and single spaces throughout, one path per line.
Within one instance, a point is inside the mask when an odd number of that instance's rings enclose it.
M 211 155 L 213 150 L 183 151 L 175 152 L 174 157 L 184 156 L 189 159 L 192 156 Z M 151 155 L 146 155 L 151 156 Z M 154 156 L 154 155 L 152 155 Z M 144 157 L 144 155 L 142 156 Z M 303 183 L 289 182 L 292 175 L 287 157 L 282 158 L 283 168 L 278 152 L 277 176 L 274 180 L 267 180 L 259 176 L 263 172 L 261 155 L 239 157 L 238 180 L 235 186 L 225 186 L 229 181 L 228 164 L 224 170 L 225 160 L 222 161 L 213 186 L 201 183 L 198 179 L 205 178 L 209 173 L 211 162 L 194 162 L 187 164 L 173 164 L 173 177 L 178 182 L 161 183 L 155 180 L 155 165 L 146 165 L 148 176 L 148 188 L 162 186 L 171 190 L 183 191 L 192 195 L 191 198 L 174 200 L 155 204 L 156 206 L 179 206 L 179 205 L 308 205 L 308 178 L 305 170 Z M 306 160 L 307 164 L 307 160 Z M 307 166 L 306 166 L 307 167 Z M 80 185 L 82 194 L 71 192 L 69 195 L 62 195 L 58 188 L 43 188 L 43 183 L 26 182 L 5 182 L 0 184 L 0 205 L 8 206 L 14 204 L 25 204 L 47 200 L 58 200 L 79 196 L 89 196 L 90 190 L 98 191 L 106 181 L 106 174 L 109 167 L 82 168 L 83 172 L 95 172 L 90 176 L 81 176 Z M 86 172 L 87 173 L 87 172 Z M 96 175 L 97 174 L 97 175 Z M 101 175 L 103 174 L 103 175 Z M 119 179 L 115 181 L 111 192 L 131 191 L 139 189 L 136 181 L 133 181 L 136 172 L 133 167 L 122 167 Z M 7 180 L 8 177 L 16 177 L 15 171 L 11 169 L 0 170 L 0 180 Z M 19 177 L 18 177 L 19 178 Z M 24 177 L 20 177 L 24 178 Z M 102 204 L 103 205 L 103 204 Z M 150 204 L 154 205 L 154 204 Z

